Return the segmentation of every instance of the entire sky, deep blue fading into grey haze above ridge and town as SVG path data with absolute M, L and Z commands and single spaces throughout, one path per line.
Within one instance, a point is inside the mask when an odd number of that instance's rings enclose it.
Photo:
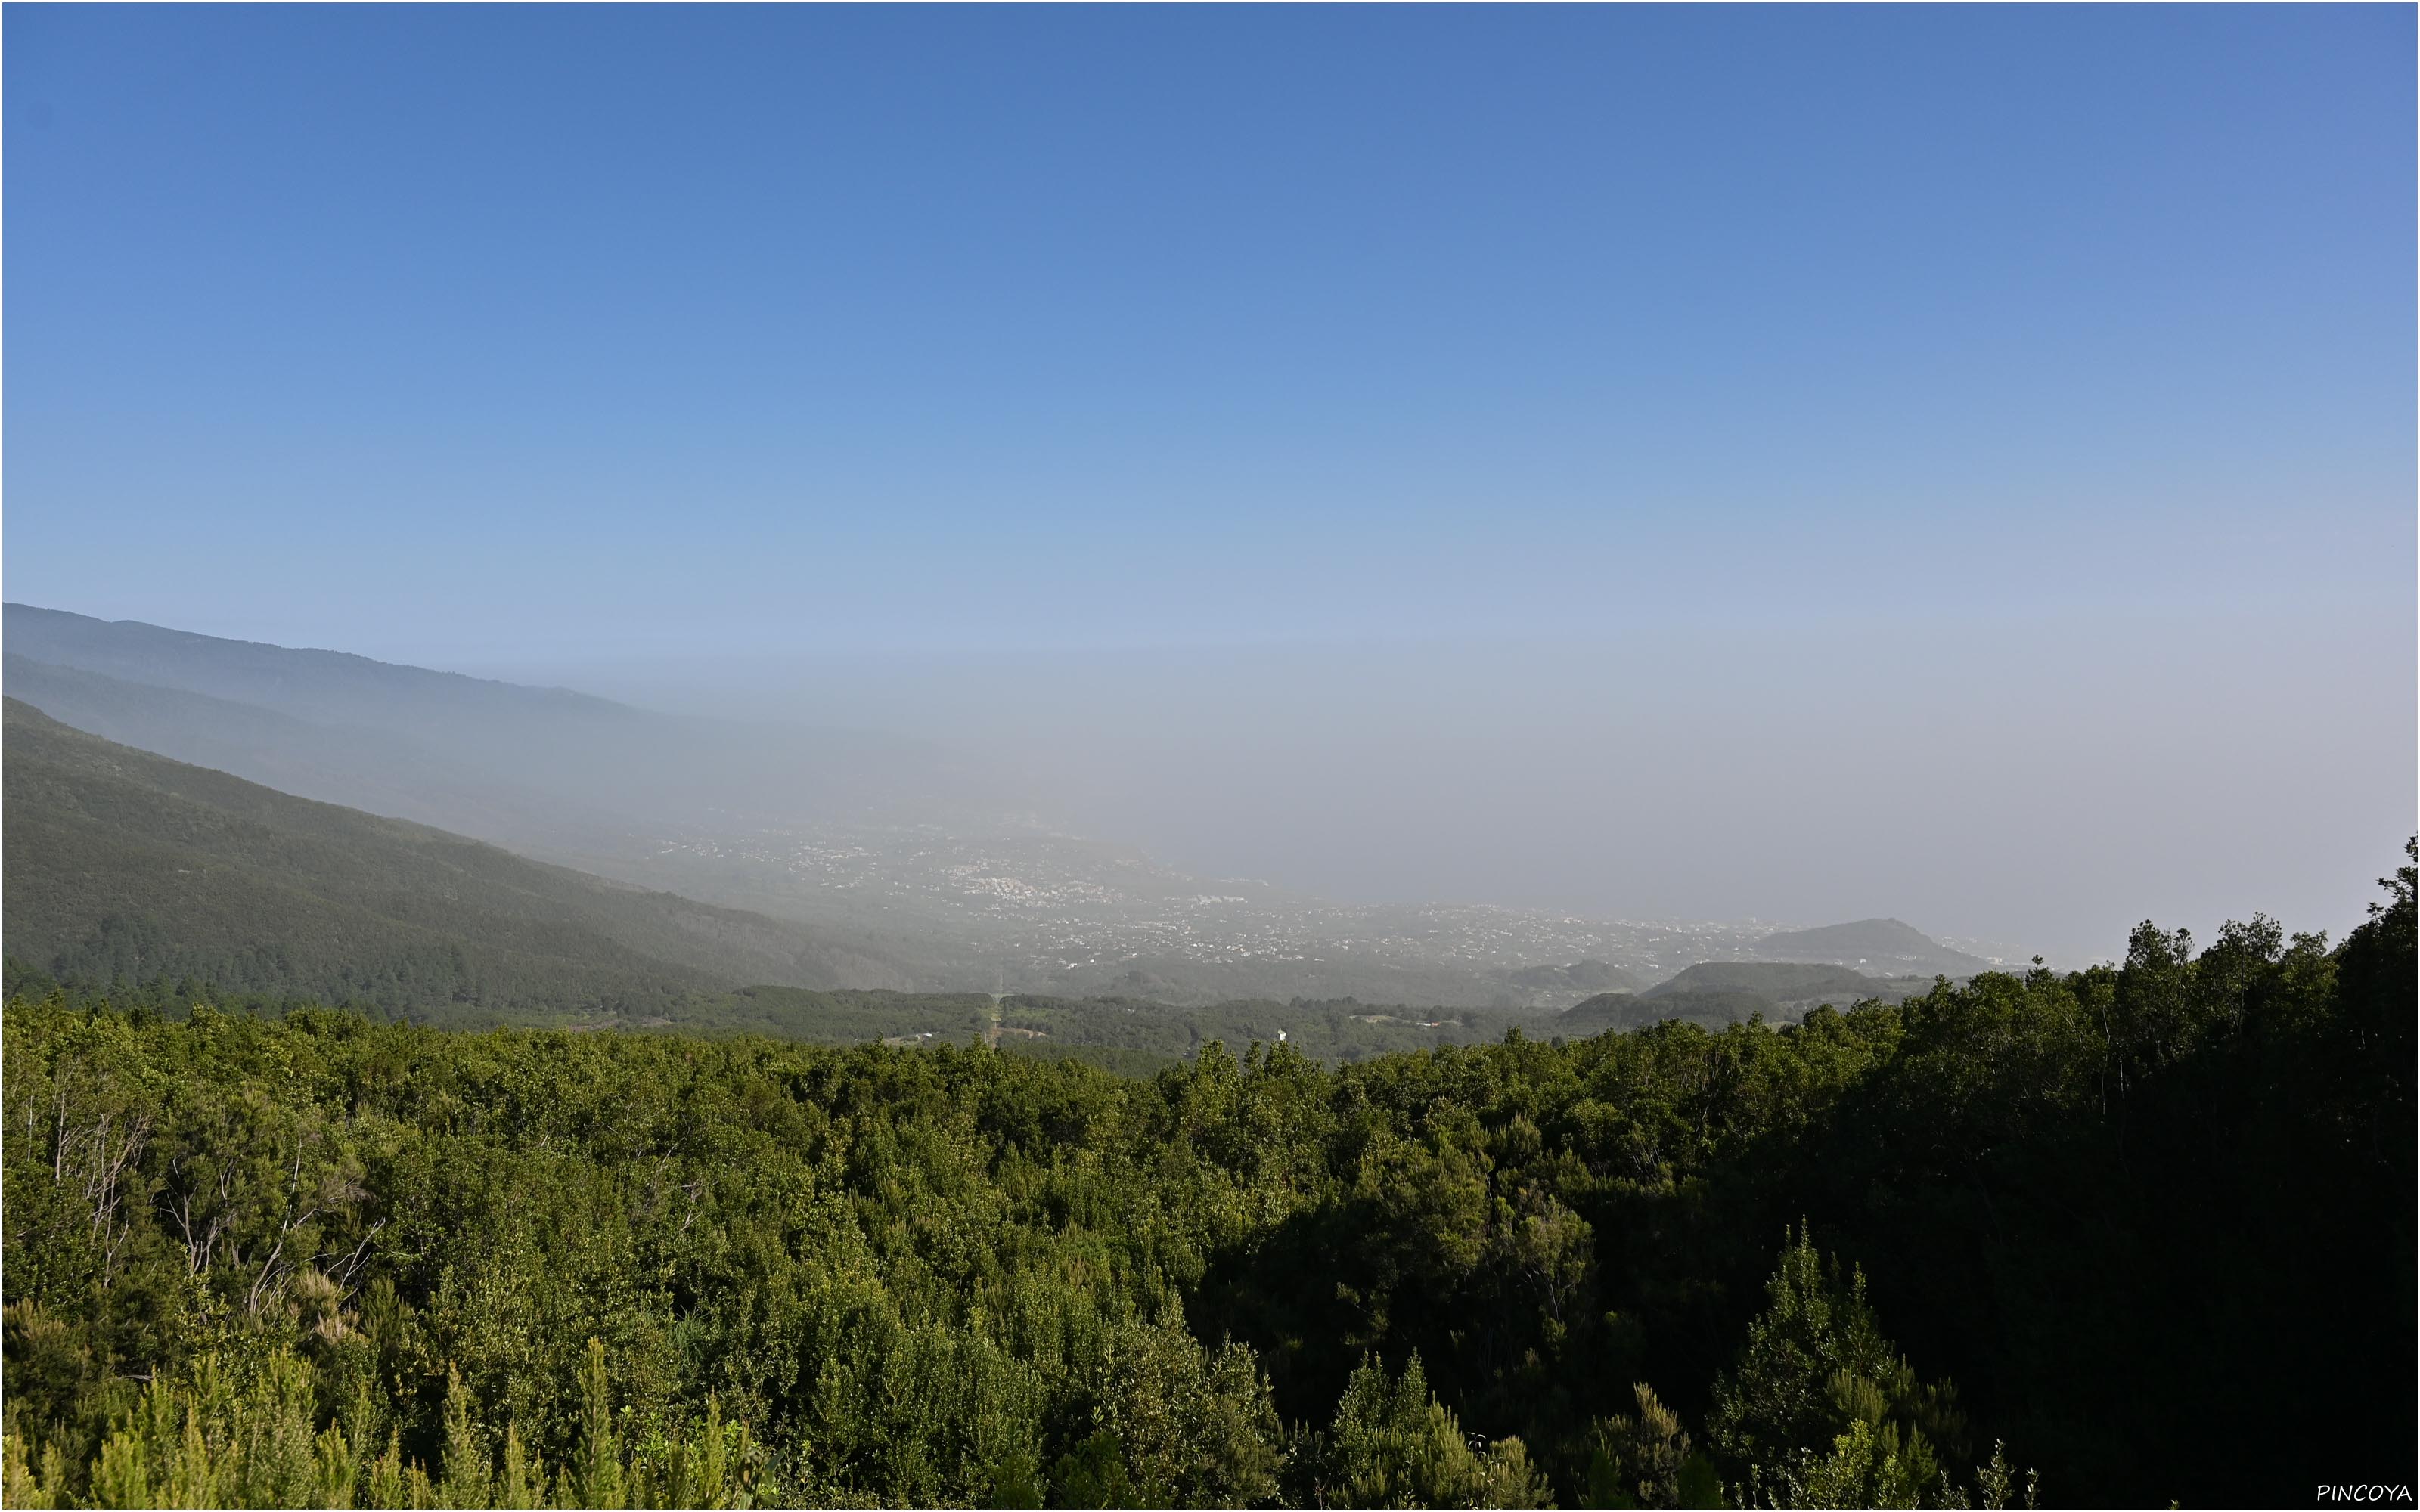
M 1304 885 L 2340 924 L 2413 825 L 2413 51 L 10 7 L 5 588 L 983 714 Z

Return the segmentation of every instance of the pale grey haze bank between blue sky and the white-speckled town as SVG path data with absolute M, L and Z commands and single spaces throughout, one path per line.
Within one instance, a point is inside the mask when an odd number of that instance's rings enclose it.
M 2084 965 L 2122 956 L 2151 905 L 2202 934 L 2246 890 L 2282 919 L 2360 917 L 2343 871 L 2374 849 L 2374 815 L 2410 806 L 2413 723 L 2408 694 L 2372 685 L 2393 653 L 2347 658 L 2362 634 L 2144 614 L 1909 639 L 1810 619 L 482 665 L 980 750 L 1055 825 L 1205 878 L 1588 919 L 1905 917 L 1982 956 Z M 2328 719 L 2294 716 L 2301 699 Z

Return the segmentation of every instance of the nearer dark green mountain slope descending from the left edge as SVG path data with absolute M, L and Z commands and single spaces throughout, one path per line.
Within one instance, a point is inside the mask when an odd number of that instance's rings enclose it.
M 791 924 L 293 798 L 5 702 L 10 956 L 426 1014 L 639 1011 L 777 982 L 905 987 Z

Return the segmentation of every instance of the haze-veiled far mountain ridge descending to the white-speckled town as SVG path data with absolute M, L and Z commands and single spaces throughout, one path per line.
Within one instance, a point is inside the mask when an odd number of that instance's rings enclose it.
M 808 982 L 1561 1009 L 1699 960 L 1771 958 L 1774 924 L 1754 919 L 1336 902 L 1188 876 L 1036 818 L 1019 786 L 1033 762 L 987 767 L 934 740 L 649 714 L 27 605 L 10 605 L 7 636 L 7 694 L 68 726 L 808 924 L 825 941 Z M 1876 977 L 1987 965 L 1912 931 L 1827 953 Z

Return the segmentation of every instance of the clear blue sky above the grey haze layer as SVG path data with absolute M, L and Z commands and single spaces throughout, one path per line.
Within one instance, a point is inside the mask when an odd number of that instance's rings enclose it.
M 2413 15 L 7 15 L 7 590 L 428 653 L 2410 595 Z

